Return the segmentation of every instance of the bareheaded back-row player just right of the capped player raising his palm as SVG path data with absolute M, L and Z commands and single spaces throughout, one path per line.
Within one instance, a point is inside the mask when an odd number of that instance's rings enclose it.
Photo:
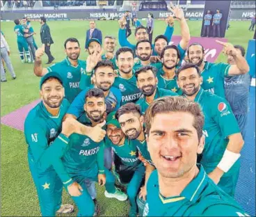
M 114 69 L 117 70 L 118 66 L 115 64 L 115 47 L 116 47 L 115 37 L 111 35 L 106 35 L 104 38 L 104 49 L 106 53 L 102 55 L 102 61 L 104 60 L 111 61 L 114 65 Z

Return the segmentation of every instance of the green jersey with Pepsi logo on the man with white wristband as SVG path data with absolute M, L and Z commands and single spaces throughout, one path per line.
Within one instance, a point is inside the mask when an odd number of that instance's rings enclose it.
M 200 104 L 205 115 L 205 147 L 200 163 L 205 167 L 209 164 L 217 166 L 227 147 L 227 136 L 240 132 L 237 120 L 225 99 L 202 88 L 196 95 L 195 102 Z

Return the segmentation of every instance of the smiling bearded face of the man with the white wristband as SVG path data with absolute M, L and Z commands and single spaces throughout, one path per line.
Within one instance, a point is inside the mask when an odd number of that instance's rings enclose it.
M 182 89 L 184 95 L 193 96 L 200 90 L 202 77 L 199 76 L 197 70 L 193 67 L 179 72 L 178 85 Z

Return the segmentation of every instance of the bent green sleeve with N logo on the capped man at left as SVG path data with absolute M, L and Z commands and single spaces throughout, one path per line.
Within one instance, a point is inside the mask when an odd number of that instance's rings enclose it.
M 51 166 L 51 159 L 63 156 L 69 138 L 60 134 L 51 145 L 48 145 L 47 135 L 40 126 L 26 127 L 26 142 L 31 148 L 35 164 L 45 171 Z

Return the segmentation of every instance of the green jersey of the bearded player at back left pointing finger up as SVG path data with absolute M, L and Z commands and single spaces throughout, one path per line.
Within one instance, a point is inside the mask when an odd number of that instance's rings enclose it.
M 66 57 L 60 63 L 55 63 L 47 67 L 48 72 L 58 72 L 63 78 L 65 88 L 65 97 L 71 103 L 73 99 L 81 92 L 79 82 L 81 74 L 85 73 L 86 62 L 78 60 L 78 65 L 74 66 Z

